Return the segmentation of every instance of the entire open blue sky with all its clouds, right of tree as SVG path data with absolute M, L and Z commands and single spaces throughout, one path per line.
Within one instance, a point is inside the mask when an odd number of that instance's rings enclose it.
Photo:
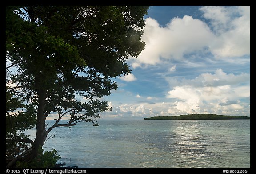
M 250 7 L 151 6 L 145 49 L 102 100 L 102 119 L 250 116 Z

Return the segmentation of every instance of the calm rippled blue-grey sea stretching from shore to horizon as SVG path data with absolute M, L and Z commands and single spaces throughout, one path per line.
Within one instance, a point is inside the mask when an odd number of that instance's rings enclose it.
M 250 120 L 98 123 L 54 128 L 43 148 L 55 148 L 58 163 L 81 168 L 250 168 Z

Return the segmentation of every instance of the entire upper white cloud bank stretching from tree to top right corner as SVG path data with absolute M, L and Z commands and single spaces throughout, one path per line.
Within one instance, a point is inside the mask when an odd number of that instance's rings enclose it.
M 145 19 L 142 40 L 146 46 L 138 58 L 130 59 L 132 67 L 156 65 L 164 59 L 183 60 L 186 54 L 212 53 L 215 58 L 250 54 L 249 6 L 205 6 L 200 10 L 209 23 L 185 15 L 161 27 L 155 19 Z

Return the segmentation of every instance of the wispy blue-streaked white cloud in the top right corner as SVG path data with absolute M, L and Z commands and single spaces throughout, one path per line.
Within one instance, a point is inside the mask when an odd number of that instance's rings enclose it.
M 204 6 L 200 10 L 217 35 L 209 44 L 217 58 L 250 54 L 250 6 Z

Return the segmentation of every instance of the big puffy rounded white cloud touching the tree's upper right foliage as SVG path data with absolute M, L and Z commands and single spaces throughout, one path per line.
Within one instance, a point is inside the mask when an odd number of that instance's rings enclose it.
M 183 54 L 204 48 L 212 35 L 209 27 L 191 16 L 174 18 L 166 27 L 160 27 L 155 19 L 147 18 L 142 40 L 145 49 L 138 58 L 132 59 L 132 67 L 141 64 L 156 65 L 161 58 L 181 59 Z

